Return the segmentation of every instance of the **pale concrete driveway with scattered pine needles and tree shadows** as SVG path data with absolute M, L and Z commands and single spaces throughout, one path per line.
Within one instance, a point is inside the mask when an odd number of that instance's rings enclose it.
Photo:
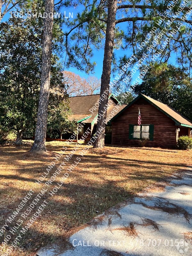
M 179 177 L 178 177 L 179 175 Z M 162 188 L 163 183 L 158 183 Z M 138 194 L 98 215 L 69 238 L 38 256 L 192 255 L 192 169 L 176 173 L 159 192 Z M 186 234 L 184 234 L 186 233 Z M 188 233 L 188 234 L 187 234 Z

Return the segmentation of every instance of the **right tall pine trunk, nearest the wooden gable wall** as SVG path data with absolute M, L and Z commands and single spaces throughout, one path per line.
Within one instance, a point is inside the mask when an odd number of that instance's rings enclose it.
M 109 94 L 109 84 L 111 76 L 111 62 L 113 54 L 113 43 L 114 43 L 114 33 L 115 33 L 115 21 L 116 21 L 116 11 L 117 11 L 117 0 L 108 1 L 108 17 L 107 17 L 107 28 L 106 28 L 106 38 L 105 38 L 105 49 L 104 49 L 104 59 L 103 59 L 103 73 L 101 76 L 101 90 L 100 90 L 100 104 L 97 119 L 97 139 L 95 140 L 93 148 L 103 148 L 105 140 L 105 121 L 107 116 L 108 104 L 108 94 Z M 106 94 L 104 94 L 106 93 Z M 105 99 L 102 101 L 106 95 Z

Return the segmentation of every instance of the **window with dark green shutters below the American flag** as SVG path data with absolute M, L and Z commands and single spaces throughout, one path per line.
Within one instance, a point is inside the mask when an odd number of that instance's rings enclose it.
M 129 125 L 129 139 L 149 139 L 153 140 L 154 125 Z

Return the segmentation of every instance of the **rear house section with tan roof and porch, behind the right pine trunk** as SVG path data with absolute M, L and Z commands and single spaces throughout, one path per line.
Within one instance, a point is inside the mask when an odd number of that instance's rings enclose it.
M 93 134 L 96 132 L 97 127 L 97 117 L 98 117 L 98 107 L 99 107 L 100 94 L 85 95 L 85 96 L 75 96 L 70 97 L 70 108 L 73 115 L 69 116 L 69 120 L 75 119 L 81 128 L 78 132 L 78 140 L 84 139 L 83 134 L 86 132 L 86 141 L 90 140 Z M 107 118 L 115 113 L 121 111 L 127 105 L 121 105 L 121 103 L 116 99 L 113 93 L 109 94 L 108 98 L 108 110 Z M 81 125 L 83 123 L 83 126 Z M 109 124 L 111 125 L 111 124 Z M 63 134 L 62 139 L 69 139 L 70 134 Z

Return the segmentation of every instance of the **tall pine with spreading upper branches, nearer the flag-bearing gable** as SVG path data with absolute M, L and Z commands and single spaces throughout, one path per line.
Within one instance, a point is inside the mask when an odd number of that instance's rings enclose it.
M 97 49 L 104 47 L 100 95 L 109 89 L 112 60 L 114 70 L 118 70 L 129 59 L 129 56 L 124 55 L 119 61 L 116 60 L 113 49 L 120 46 L 124 50 L 132 49 L 135 58 L 131 64 L 142 58 L 144 54 L 146 60 L 151 61 L 154 54 L 161 51 L 158 55 L 161 62 L 166 62 L 172 52 L 177 52 L 178 63 L 191 67 L 191 20 L 186 16 L 190 10 L 191 1 L 183 6 L 180 6 L 181 1 L 174 1 L 174 4 L 169 6 L 170 2 L 160 0 L 150 0 L 147 3 L 132 0 L 128 2 L 82 0 L 79 3 L 84 6 L 83 12 L 78 13 L 73 21 L 66 22 L 69 28 L 64 40 L 68 57 L 66 65 L 90 72 L 96 65 L 90 60 L 93 56 L 92 47 Z M 127 31 L 118 27 L 123 22 L 128 23 Z M 152 30 L 154 27 L 156 27 L 155 33 Z M 164 44 L 166 39 L 167 44 Z M 150 48 L 154 41 L 154 47 Z M 128 72 L 130 72 L 129 69 L 124 72 L 121 79 L 126 77 Z M 95 141 L 95 148 L 104 146 L 107 103 L 108 95 L 105 100 L 100 100 L 99 116 L 101 118 L 97 123 L 97 132 L 100 135 Z

